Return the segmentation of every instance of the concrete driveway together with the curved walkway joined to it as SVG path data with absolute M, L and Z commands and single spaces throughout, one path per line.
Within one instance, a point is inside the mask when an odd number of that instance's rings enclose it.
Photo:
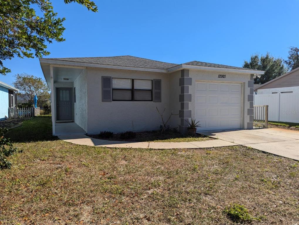
M 132 142 L 100 140 L 85 134 L 59 135 L 58 137 L 73 144 L 113 148 L 194 149 L 245 145 L 274 155 L 299 160 L 299 131 L 269 128 L 200 133 L 217 139 L 190 142 Z

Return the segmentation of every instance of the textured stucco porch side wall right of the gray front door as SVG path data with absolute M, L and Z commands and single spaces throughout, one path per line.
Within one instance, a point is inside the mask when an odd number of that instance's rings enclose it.
M 87 132 L 87 71 L 83 70 L 74 81 L 76 102 L 74 103 L 74 122 Z M 91 99 L 93 100 L 93 99 Z

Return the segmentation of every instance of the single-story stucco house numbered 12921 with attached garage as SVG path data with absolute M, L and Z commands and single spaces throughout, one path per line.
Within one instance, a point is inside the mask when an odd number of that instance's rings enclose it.
M 53 135 L 73 122 L 88 134 L 157 130 L 160 112 L 186 132 L 252 129 L 253 80 L 264 71 L 199 61 L 166 63 L 133 56 L 40 58 L 51 90 Z M 62 129 L 63 127 L 63 129 Z M 70 128 L 73 129 L 73 128 Z

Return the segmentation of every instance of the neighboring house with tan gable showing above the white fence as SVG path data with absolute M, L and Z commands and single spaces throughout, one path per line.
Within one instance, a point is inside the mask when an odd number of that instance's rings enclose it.
M 257 94 L 299 93 L 299 67 L 256 87 Z

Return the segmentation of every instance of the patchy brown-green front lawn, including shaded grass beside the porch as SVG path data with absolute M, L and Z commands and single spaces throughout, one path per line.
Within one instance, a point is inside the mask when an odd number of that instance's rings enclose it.
M 9 136 L 0 224 L 296 224 L 299 163 L 243 146 L 150 150 L 51 137 L 51 117 Z

